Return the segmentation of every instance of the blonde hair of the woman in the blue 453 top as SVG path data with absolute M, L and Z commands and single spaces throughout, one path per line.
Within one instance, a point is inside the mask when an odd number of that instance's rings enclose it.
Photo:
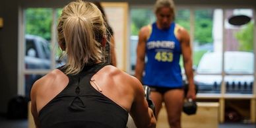
M 154 13 L 157 14 L 162 7 L 169 7 L 174 12 L 172 19 L 175 19 L 175 5 L 173 0 L 156 0 L 154 4 Z

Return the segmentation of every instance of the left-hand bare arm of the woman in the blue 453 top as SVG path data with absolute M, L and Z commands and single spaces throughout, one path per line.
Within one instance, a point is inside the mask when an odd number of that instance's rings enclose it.
M 139 32 L 139 42 L 137 45 L 137 62 L 135 67 L 135 77 L 139 79 L 142 82 L 143 77 L 143 71 L 144 71 L 144 58 L 145 58 L 145 52 L 146 52 L 146 40 L 147 35 L 149 33 L 149 30 L 146 26 L 141 28 L 141 31 Z

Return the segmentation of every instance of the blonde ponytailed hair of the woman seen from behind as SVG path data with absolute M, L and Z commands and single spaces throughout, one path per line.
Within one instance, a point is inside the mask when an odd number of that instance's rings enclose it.
M 68 57 L 67 75 L 79 73 L 84 65 L 102 61 L 106 26 L 96 5 L 81 0 L 69 3 L 63 8 L 57 30 L 58 42 L 65 45 Z

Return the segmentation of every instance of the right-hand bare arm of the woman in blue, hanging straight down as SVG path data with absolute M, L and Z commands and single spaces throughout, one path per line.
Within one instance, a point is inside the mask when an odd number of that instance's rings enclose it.
M 193 80 L 193 69 L 192 69 L 192 59 L 191 59 L 191 46 L 189 34 L 183 28 L 180 28 L 179 34 L 181 35 L 181 51 L 183 55 L 183 63 L 185 74 L 189 82 L 189 91 L 187 92 L 187 98 L 192 98 L 195 100 L 195 84 Z

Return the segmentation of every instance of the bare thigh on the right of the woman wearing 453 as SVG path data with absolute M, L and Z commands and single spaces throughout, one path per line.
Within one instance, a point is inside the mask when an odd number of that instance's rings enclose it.
M 183 89 L 173 89 L 164 94 L 164 104 L 168 114 L 168 122 L 172 128 L 181 128 L 183 93 Z

